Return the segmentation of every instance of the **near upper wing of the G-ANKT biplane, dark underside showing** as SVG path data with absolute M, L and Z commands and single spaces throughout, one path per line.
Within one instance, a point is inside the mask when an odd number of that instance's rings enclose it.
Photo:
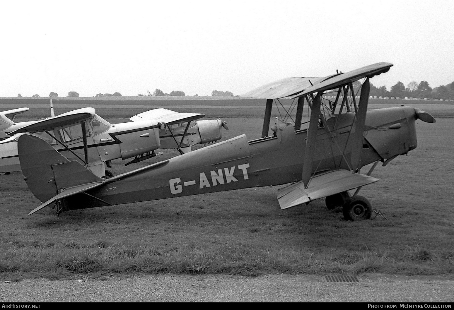
M 375 75 L 388 72 L 388 70 L 393 66 L 390 63 L 376 63 L 369 66 L 362 67 L 360 69 L 355 69 L 347 73 L 341 73 L 336 75 L 330 75 L 325 78 L 322 78 L 320 83 L 314 84 L 311 87 L 308 87 L 301 91 L 300 93 L 295 94 L 293 98 L 307 95 L 309 93 L 323 92 L 325 90 L 336 89 L 342 85 L 355 82 L 362 78 L 371 78 Z

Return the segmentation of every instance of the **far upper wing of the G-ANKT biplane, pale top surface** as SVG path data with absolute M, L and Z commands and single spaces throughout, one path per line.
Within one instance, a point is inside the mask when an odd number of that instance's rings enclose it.
M 250 92 L 243 93 L 242 97 L 276 99 L 294 95 L 317 84 L 321 78 L 317 77 L 302 77 L 302 78 L 286 78 L 260 86 Z

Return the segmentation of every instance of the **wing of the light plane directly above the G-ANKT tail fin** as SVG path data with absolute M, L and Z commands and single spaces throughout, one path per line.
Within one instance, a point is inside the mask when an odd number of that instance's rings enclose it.
M 37 121 L 31 125 L 27 125 L 16 129 L 9 133 L 10 136 L 16 133 L 35 133 L 38 131 L 52 130 L 57 127 L 63 127 L 75 123 L 80 123 L 83 120 L 94 117 L 94 108 L 81 108 L 67 113 L 60 114 L 53 118 L 47 118 L 42 121 Z

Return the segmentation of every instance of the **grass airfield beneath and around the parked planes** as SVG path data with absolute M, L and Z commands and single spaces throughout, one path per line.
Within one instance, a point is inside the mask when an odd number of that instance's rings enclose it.
M 414 106 L 437 116 L 427 107 Z M 97 113 L 115 123 L 144 110 Z M 447 114 L 438 116 L 454 115 L 449 113 L 451 105 L 439 110 Z M 242 133 L 258 138 L 262 118 L 255 108 L 249 115 L 237 111 L 191 109 L 227 120 L 230 131 L 223 139 Z M 22 117 L 33 119 L 29 112 Z M 56 106 L 56 113 L 63 112 Z M 274 114 L 279 116 L 276 109 Z M 453 127 L 452 118 L 434 124 L 418 121 L 418 147 L 386 167 L 376 167 L 372 175 L 380 182 L 364 187 L 360 195 L 388 220 L 345 221 L 341 210 L 327 210 L 324 200 L 281 210 L 278 187 L 75 210 L 60 217 L 45 208 L 27 216 L 39 201 L 22 174 L 1 176 L 0 275 L 5 280 L 169 272 L 452 276 Z M 159 152 L 163 154 L 128 167 L 116 161 L 112 170 L 118 174 L 177 155 L 173 150 Z

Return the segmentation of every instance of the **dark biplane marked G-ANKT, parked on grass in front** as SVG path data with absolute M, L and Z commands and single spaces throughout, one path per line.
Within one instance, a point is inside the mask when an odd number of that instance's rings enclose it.
M 370 202 L 357 195 L 378 179 L 370 176 L 378 162 L 417 146 L 415 121 L 434 123 L 411 107 L 367 111 L 370 82 L 392 64 L 377 63 L 324 78 L 290 78 L 245 94 L 266 99 L 262 138 L 240 135 L 191 153 L 154 163 L 110 179 L 102 179 L 77 161 L 56 152 L 39 137 L 24 134 L 19 158 L 31 192 L 43 202 L 29 214 L 50 206 L 64 211 L 122 203 L 221 192 L 247 187 L 284 185 L 277 200 L 282 209 L 326 198 L 341 206 L 348 220 L 370 218 Z M 358 102 L 353 82 L 364 79 Z M 334 100 L 323 98 L 333 91 Z M 273 100 L 294 98 L 294 124 L 276 119 L 268 135 Z M 306 103 L 306 104 L 305 104 Z M 311 113 L 302 126 L 304 106 Z M 372 164 L 366 173 L 360 168 Z M 356 190 L 355 190 L 356 189 Z M 355 193 L 350 196 L 351 190 Z

